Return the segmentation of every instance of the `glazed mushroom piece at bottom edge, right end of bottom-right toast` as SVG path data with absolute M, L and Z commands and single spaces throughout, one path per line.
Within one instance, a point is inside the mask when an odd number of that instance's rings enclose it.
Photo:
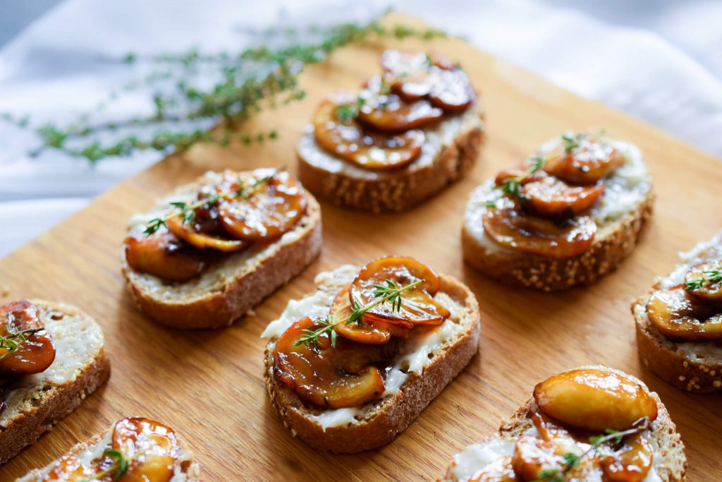
M 640 434 L 625 439 L 622 448 L 601 462 L 606 481 L 642 482 L 652 468 L 651 444 Z

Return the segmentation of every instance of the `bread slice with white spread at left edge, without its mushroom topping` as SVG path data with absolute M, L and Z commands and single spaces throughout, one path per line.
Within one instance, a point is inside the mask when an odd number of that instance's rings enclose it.
M 34 443 L 75 410 L 110 376 L 103 330 L 79 309 L 31 300 L 53 337 L 56 358 L 43 373 L 24 376 L 5 391 L 0 413 L 0 464 Z

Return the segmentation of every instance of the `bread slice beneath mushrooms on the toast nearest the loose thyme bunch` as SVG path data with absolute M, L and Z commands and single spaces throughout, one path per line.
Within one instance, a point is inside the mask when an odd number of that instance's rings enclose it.
M 142 231 L 149 220 L 168 210 L 168 202 L 187 200 L 219 173 L 209 172 L 181 186 L 147 215 L 131 218 L 129 233 Z M 298 275 L 321 253 L 321 207 L 308 191 L 305 215 L 295 228 L 270 244 L 253 244 L 226 254 L 199 277 L 169 283 L 133 270 L 122 257 L 123 276 L 139 309 L 152 319 L 175 328 L 225 327 Z

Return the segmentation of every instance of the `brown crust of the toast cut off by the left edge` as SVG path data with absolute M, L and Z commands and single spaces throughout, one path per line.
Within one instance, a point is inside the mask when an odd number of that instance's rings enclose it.
M 37 306 L 61 311 L 67 317 L 89 318 L 74 306 L 32 300 Z M 110 360 L 105 348 L 93 358 L 72 382 L 38 387 L 38 393 L 27 400 L 27 408 L 14 417 L 5 428 L 0 427 L 0 465 L 35 443 L 42 434 L 79 407 L 85 397 L 95 392 L 110 376 Z

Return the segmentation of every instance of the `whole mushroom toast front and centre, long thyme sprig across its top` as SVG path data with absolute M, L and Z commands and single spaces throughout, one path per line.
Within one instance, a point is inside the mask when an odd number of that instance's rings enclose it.
M 344 265 L 316 285 L 262 335 L 271 404 L 311 447 L 390 442 L 477 353 L 477 299 L 415 259 Z

